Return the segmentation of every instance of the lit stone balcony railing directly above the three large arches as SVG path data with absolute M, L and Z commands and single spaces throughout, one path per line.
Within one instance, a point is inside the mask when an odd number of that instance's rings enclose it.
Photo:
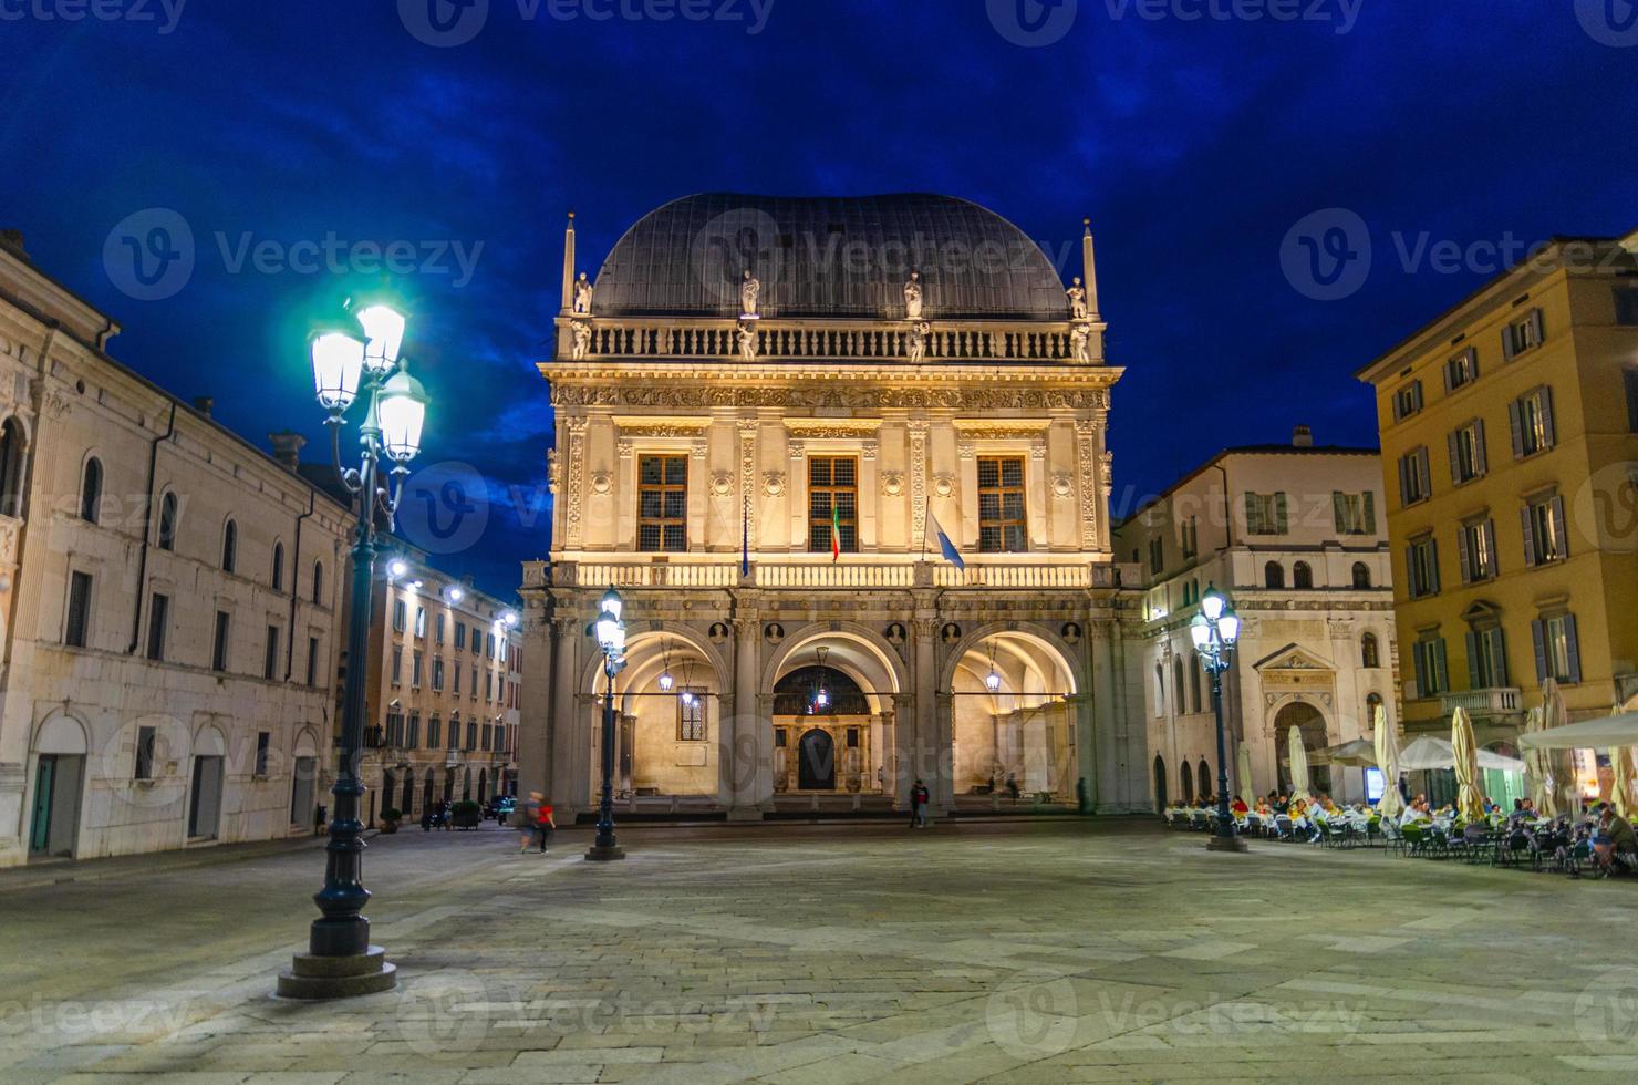
M 924 572 L 921 572 L 924 570 Z M 921 577 L 921 580 L 917 579 Z M 545 565 L 526 572 L 529 583 L 545 582 Z M 724 562 L 559 562 L 557 587 L 727 588 L 740 583 L 739 559 Z M 747 585 L 760 588 L 1115 588 L 1137 583 L 1137 567 L 1086 561 L 753 561 Z

